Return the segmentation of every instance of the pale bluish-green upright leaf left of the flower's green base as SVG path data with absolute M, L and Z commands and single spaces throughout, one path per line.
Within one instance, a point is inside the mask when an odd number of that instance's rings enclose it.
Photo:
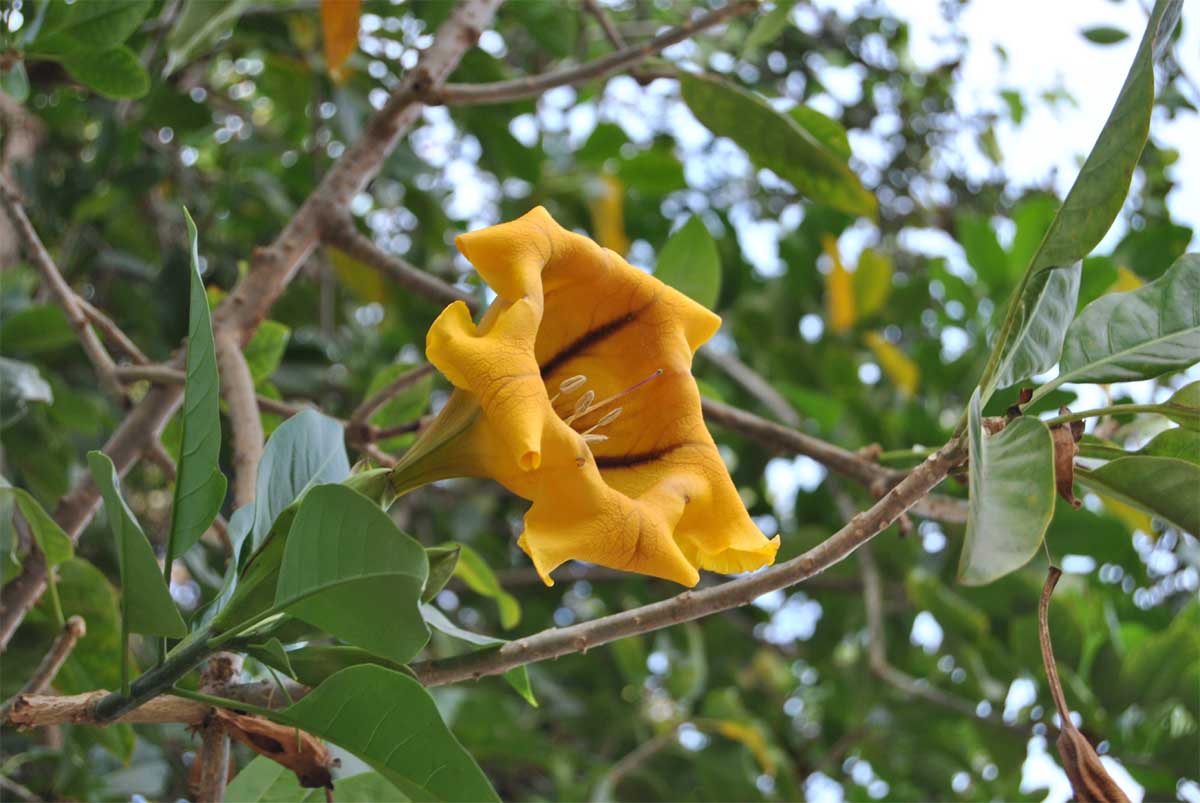
M 342 425 L 317 411 L 296 413 L 271 433 L 258 463 L 258 496 L 250 549 L 257 550 L 276 516 L 308 487 L 350 475 Z

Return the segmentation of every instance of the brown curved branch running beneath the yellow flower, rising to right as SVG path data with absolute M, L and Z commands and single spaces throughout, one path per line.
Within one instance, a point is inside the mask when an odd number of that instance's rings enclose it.
M 745 605 L 767 592 L 808 580 L 844 559 L 892 525 L 917 499 L 929 493 L 964 457 L 964 449 L 958 442 L 947 444 L 900 480 L 869 510 L 854 516 L 829 539 L 804 555 L 764 571 L 704 591 L 684 592 L 661 603 L 643 605 L 569 628 L 545 630 L 510 641 L 494 651 L 422 661 L 413 664 L 412 669 L 425 685 L 478 679 L 506 672 L 523 664 L 584 652 L 638 633 L 658 630 Z

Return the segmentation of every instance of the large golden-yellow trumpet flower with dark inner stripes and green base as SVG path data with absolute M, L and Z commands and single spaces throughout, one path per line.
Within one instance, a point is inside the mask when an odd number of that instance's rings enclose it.
M 529 499 L 517 544 L 547 586 L 571 559 L 685 586 L 774 562 L 691 376 L 720 318 L 540 206 L 455 242 L 497 299 L 478 325 L 457 301 L 430 329 L 455 391 L 394 487 L 491 477 Z

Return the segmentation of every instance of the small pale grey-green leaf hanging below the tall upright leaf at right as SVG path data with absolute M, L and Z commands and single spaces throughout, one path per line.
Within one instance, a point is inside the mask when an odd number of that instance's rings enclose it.
M 1021 296 L 1019 323 L 1003 350 L 986 401 L 996 388 L 1009 388 L 1049 371 L 1058 361 L 1067 326 L 1075 314 L 1080 263 L 1034 276 Z

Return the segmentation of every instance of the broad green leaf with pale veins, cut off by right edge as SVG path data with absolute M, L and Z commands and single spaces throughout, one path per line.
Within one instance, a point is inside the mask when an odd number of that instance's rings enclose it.
M 1054 385 L 1134 382 L 1200 361 L 1200 253 L 1159 278 L 1092 301 L 1070 324 Z

